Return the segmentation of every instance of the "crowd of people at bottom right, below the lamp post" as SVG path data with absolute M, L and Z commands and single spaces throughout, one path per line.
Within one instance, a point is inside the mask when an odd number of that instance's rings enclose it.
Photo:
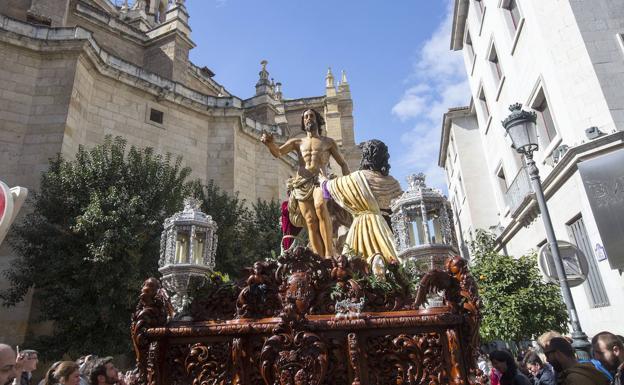
M 590 360 L 579 360 L 569 338 L 544 333 L 538 349 L 495 350 L 479 359 L 482 383 L 490 385 L 624 385 L 624 338 L 601 332 L 592 339 Z

